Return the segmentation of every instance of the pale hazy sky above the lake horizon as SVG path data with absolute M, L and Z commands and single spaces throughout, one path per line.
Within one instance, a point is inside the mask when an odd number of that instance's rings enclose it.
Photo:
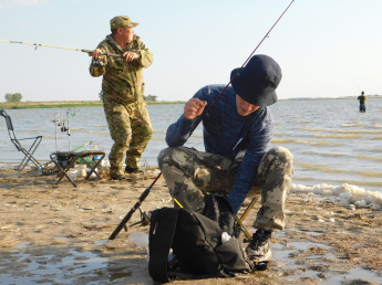
M 279 99 L 382 95 L 382 1 L 0 0 L 0 40 L 94 50 L 110 20 L 128 15 L 154 54 L 145 95 L 187 101 L 255 54 L 282 70 Z M 96 101 L 86 53 L 0 42 L 0 102 Z

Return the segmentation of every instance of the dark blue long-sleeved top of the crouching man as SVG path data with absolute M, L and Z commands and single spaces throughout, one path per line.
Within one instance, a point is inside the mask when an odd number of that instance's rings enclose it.
M 194 97 L 207 102 L 203 117 L 204 145 L 207 152 L 229 159 L 242 159 L 236 182 L 228 200 L 237 213 L 246 199 L 256 176 L 260 159 L 266 154 L 273 135 L 273 118 L 268 107 L 260 107 L 248 116 L 240 116 L 236 108 L 236 93 L 228 87 L 209 109 L 225 85 L 207 85 Z M 198 118 L 187 119 L 182 115 L 166 134 L 169 147 L 183 146 Z

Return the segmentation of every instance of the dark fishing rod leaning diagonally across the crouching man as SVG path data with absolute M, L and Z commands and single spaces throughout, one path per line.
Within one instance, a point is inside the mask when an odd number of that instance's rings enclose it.
M 208 114 L 208 112 L 213 108 L 213 106 L 216 104 L 216 102 L 221 97 L 221 95 L 226 92 L 226 89 L 228 88 L 229 84 L 233 82 L 233 80 L 236 77 L 236 75 L 241 71 L 241 68 L 246 65 L 246 63 L 250 60 L 250 57 L 255 54 L 255 52 L 257 51 L 257 49 L 261 45 L 261 43 L 268 38 L 269 33 L 273 30 L 273 28 L 276 27 L 276 24 L 280 21 L 280 19 L 283 17 L 283 14 L 288 11 L 289 7 L 295 2 L 295 0 L 292 0 L 289 6 L 286 8 L 286 10 L 283 10 L 283 12 L 281 13 L 281 15 L 277 19 L 277 21 L 273 23 L 273 25 L 269 29 L 269 31 L 266 33 L 266 35 L 262 38 L 262 40 L 259 42 L 259 44 L 255 48 L 255 50 L 250 53 L 250 55 L 248 56 L 248 59 L 242 63 L 242 65 L 240 66 L 240 68 L 236 72 L 236 74 L 233 76 L 233 78 L 228 82 L 228 84 L 226 85 L 226 87 L 220 92 L 220 94 L 216 97 L 216 99 L 213 102 L 213 104 L 209 106 L 209 108 L 207 109 L 207 112 L 205 112 L 199 119 L 196 122 L 195 126 L 193 127 L 190 135 L 194 133 L 194 130 L 197 128 L 197 126 L 200 124 L 200 122 L 204 119 L 204 117 L 206 116 L 206 114 Z M 130 212 L 125 215 L 125 218 L 121 221 L 121 223 L 118 224 L 118 226 L 114 230 L 114 232 L 112 233 L 112 235 L 109 238 L 109 240 L 114 240 L 116 238 L 116 235 L 121 232 L 122 229 L 125 229 L 125 231 L 127 231 L 126 228 L 126 223 L 128 222 L 130 218 L 133 215 L 133 213 L 140 208 L 140 205 L 142 204 L 142 202 L 146 199 L 146 197 L 148 196 L 151 189 L 153 188 L 153 186 L 155 184 L 155 182 L 159 179 L 162 172 L 159 172 L 159 175 L 155 178 L 155 180 L 153 181 L 153 183 L 142 193 L 142 196 L 138 198 L 138 201 L 134 204 L 134 207 L 130 210 Z M 256 199 L 256 198 L 255 198 Z M 238 219 L 236 219 L 238 220 Z

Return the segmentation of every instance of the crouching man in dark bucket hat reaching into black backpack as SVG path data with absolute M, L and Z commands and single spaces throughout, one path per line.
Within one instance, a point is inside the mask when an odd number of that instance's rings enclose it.
M 235 214 L 249 193 L 261 194 L 254 224 L 258 230 L 246 252 L 265 261 L 271 256 L 272 231 L 282 230 L 286 223 L 293 172 L 288 149 L 268 149 L 273 118 L 267 106 L 277 101 L 281 70 L 271 57 L 255 55 L 230 77 L 233 86 L 210 110 L 224 85 L 205 86 L 185 104 L 183 115 L 167 129 L 169 147 L 161 151 L 158 165 L 171 196 L 194 211 L 202 212 L 206 192 L 226 192 Z M 200 116 L 206 152 L 183 146 Z

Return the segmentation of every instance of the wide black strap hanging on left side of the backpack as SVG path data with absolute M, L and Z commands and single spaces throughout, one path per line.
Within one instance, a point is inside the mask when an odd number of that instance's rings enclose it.
M 175 234 L 178 211 L 178 208 L 162 208 L 152 213 L 148 272 L 155 282 L 171 282 L 167 274 L 167 263 Z

